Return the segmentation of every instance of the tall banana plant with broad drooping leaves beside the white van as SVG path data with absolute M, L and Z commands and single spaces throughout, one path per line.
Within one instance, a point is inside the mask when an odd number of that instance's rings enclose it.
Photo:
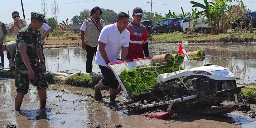
M 203 0 L 204 1 L 204 4 L 200 4 L 198 2 L 194 2 L 194 1 L 190 1 L 191 4 L 193 4 L 192 7 L 201 7 L 202 9 L 204 9 L 203 11 L 200 11 L 200 12 L 197 12 L 195 15 L 199 15 L 199 14 L 204 14 L 209 20 L 210 20 L 210 25 L 211 25 L 211 33 L 212 34 L 218 34 L 216 33 L 215 31 L 215 28 L 214 28 L 214 25 L 213 25 L 213 21 L 212 21 L 212 18 L 214 18 L 211 14 L 210 14 L 210 11 L 211 11 L 211 6 L 209 4 L 209 2 L 207 0 Z M 214 4 L 213 2 L 210 2 L 211 4 Z

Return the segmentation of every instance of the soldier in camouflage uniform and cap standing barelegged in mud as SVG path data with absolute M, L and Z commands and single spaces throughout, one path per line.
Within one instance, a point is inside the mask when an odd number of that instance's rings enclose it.
M 45 108 L 48 85 L 43 74 L 45 67 L 40 47 L 41 34 L 38 30 L 45 22 L 43 14 L 31 12 L 30 25 L 23 27 L 17 36 L 17 51 L 14 59 L 14 66 L 16 67 L 15 86 L 17 87 L 15 98 L 16 111 L 20 110 L 23 97 L 28 93 L 29 82 L 37 86 L 40 108 Z

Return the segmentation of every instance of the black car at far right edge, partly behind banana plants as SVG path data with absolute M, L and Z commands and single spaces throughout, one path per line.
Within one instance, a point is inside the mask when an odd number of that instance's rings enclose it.
M 252 21 L 251 21 L 252 18 Z M 235 22 L 232 22 L 232 29 L 235 29 L 235 31 L 239 31 L 239 29 L 242 26 L 242 21 L 243 20 L 243 16 L 238 18 L 236 20 L 236 22 L 238 23 L 239 27 L 237 26 L 237 24 Z M 248 12 L 245 16 L 245 21 L 246 21 L 246 27 L 249 27 L 249 23 L 252 22 L 252 28 L 256 28 L 256 11 L 253 12 Z

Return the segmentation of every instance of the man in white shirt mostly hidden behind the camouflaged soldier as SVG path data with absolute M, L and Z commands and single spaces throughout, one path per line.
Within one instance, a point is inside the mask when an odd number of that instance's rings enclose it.
M 39 29 L 40 33 L 41 33 L 41 49 L 42 49 L 42 55 L 43 55 L 43 60 L 44 60 L 44 70 L 43 73 L 46 73 L 46 66 L 45 66 L 45 58 L 44 58 L 44 39 L 45 37 L 50 33 L 50 31 L 52 31 L 52 28 L 47 25 L 46 23 L 43 23 L 42 27 Z

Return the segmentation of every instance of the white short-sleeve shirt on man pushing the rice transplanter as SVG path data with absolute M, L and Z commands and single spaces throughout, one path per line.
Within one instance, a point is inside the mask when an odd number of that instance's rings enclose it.
M 120 58 L 120 48 L 129 47 L 130 32 L 125 29 L 120 33 L 116 23 L 114 23 L 103 27 L 98 41 L 106 44 L 105 50 L 108 60 L 110 62 L 117 62 L 119 61 L 117 59 Z M 105 60 L 101 57 L 99 47 L 97 47 L 95 63 L 101 66 L 107 66 Z

